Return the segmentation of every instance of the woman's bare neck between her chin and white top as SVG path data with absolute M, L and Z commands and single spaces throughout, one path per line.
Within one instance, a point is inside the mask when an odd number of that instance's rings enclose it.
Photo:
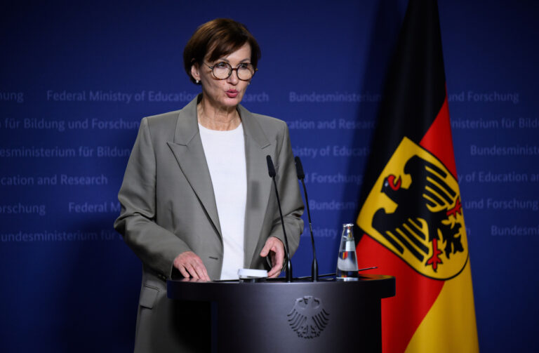
M 197 105 L 197 119 L 201 126 L 219 131 L 234 130 L 241 123 L 236 107 L 216 108 L 204 98 Z

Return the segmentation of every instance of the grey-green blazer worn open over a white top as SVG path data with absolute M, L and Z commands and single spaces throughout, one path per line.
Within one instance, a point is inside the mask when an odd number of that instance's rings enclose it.
M 179 275 L 172 265 L 178 254 L 193 251 L 211 279 L 220 277 L 222 235 L 197 123 L 199 99 L 181 110 L 142 119 L 119 191 L 121 213 L 114 228 L 142 260 L 135 352 L 201 350 L 200 342 L 191 346 L 185 338 L 192 329 L 182 326 L 191 319 L 188 308 L 166 298 L 166 279 Z M 266 239 L 284 243 L 267 154 L 277 170 L 291 255 L 303 231 L 303 203 L 286 123 L 241 105 L 238 110 L 247 166 L 244 267 L 262 269 L 268 267 L 259 255 Z

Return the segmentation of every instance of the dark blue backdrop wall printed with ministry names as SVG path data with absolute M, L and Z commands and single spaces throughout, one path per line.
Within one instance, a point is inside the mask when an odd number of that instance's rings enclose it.
M 182 50 L 217 17 L 260 43 L 244 105 L 287 121 L 320 270 L 334 271 L 406 1 L 1 7 L 2 352 L 132 350 L 140 262 L 112 229 L 117 192 L 140 119 L 199 92 Z M 538 4 L 443 0 L 439 12 L 479 344 L 525 351 L 539 331 Z M 305 232 L 294 274 L 310 262 Z

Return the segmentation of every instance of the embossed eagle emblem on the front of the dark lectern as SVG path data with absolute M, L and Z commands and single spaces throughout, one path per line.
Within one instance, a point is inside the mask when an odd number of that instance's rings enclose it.
M 322 307 L 322 300 L 312 295 L 296 299 L 287 316 L 288 324 L 301 338 L 318 337 L 329 322 L 329 314 Z

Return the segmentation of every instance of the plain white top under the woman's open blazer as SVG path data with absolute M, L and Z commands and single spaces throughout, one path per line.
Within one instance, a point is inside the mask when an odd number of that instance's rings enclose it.
M 244 267 L 244 224 L 247 167 L 244 128 L 210 130 L 199 124 L 200 138 L 210 170 L 222 232 L 221 279 L 238 279 Z

